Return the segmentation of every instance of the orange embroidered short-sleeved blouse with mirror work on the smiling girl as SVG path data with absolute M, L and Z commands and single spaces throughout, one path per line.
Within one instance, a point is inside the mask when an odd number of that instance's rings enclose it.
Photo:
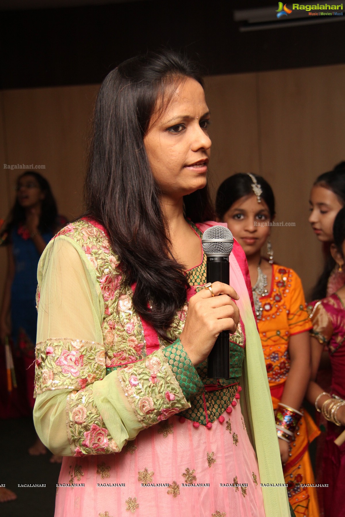
M 268 295 L 261 296 L 258 321 L 270 388 L 282 385 L 290 370 L 289 338 L 312 328 L 301 279 L 292 269 L 272 265 Z

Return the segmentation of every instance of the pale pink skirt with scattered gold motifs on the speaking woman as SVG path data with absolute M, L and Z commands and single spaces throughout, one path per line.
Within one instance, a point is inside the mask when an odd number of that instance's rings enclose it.
M 55 517 L 265 517 L 239 404 L 223 417 L 211 429 L 172 417 L 120 453 L 64 457 Z

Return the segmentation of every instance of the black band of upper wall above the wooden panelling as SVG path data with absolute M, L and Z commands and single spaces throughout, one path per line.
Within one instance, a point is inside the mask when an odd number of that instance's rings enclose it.
M 3 2 L 3 9 L 16 1 Z M 22 2 L 30 4 L 30 0 Z M 291 26 L 289 17 L 275 18 L 277 4 L 273 0 L 146 0 L 3 10 L 0 87 L 100 83 L 124 59 L 162 45 L 198 57 L 205 74 L 211 75 L 345 62 L 342 20 L 319 24 L 313 19 Z M 265 6 L 272 6 L 278 28 L 239 32 L 241 24 L 234 21 L 233 11 Z

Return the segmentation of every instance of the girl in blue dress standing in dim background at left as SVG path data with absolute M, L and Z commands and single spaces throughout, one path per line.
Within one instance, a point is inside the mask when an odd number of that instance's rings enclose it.
M 0 338 L 12 339 L 14 353 L 25 363 L 27 398 L 34 407 L 34 360 L 37 330 L 36 288 L 39 258 L 56 231 L 65 224 L 57 216 L 56 203 L 48 181 L 34 171 L 25 171 L 17 180 L 17 197 L 9 222 L 0 233 L 7 246 L 7 275 L 0 311 Z M 41 440 L 29 454 L 47 452 Z

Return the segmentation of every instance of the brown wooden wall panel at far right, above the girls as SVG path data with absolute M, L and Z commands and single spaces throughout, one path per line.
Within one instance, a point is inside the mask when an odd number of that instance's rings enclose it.
M 345 65 L 258 74 L 261 171 L 277 200 L 276 258 L 302 277 L 306 294 L 322 270 L 308 219 L 316 177 L 345 159 Z

